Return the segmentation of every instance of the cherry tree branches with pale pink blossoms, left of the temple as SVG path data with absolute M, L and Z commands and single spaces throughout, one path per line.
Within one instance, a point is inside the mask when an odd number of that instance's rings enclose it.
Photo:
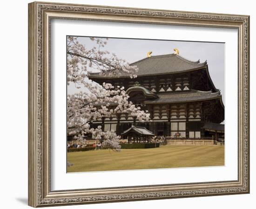
M 88 49 L 79 43 L 77 37 L 67 38 L 67 85 L 74 83 L 83 91 L 67 95 L 67 134 L 77 140 L 84 140 L 91 133 L 94 139 L 102 141 L 109 149 L 120 150 L 120 136 L 115 131 L 102 131 L 101 126 L 91 127 L 94 121 L 118 114 L 128 114 L 139 121 L 148 121 L 149 113 L 136 107 L 123 86 L 114 88 L 111 84 L 99 85 L 88 78 L 92 71 L 102 76 L 120 76 L 126 73 L 136 78 L 137 66 L 130 66 L 126 60 L 119 59 L 114 53 L 103 50 L 108 39 L 90 38 L 95 47 Z M 96 47 L 97 46 L 97 47 Z

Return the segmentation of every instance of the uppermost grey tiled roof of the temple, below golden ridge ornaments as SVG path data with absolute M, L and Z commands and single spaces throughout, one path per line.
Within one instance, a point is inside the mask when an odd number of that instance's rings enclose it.
M 200 63 L 198 61 L 190 61 L 188 59 L 182 58 L 178 54 L 166 54 L 166 55 L 157 55 L 151 56 L 145 59 L 141 59 L 137 62 L 130 64 L 132 66 L 136 65 L 139 68 L 137 73 L 138 76 L 145 75 L 156 75 L 156 74 L 168 74 L 168 73 L 177 73 L 177 72 L 186 72 L 201 68 L 207 65 L 207 62 Z M 91 73 L 91 78 L 95 77 L 105 77 L 100 73 Z M 119 77 L 128 77 L 128 74 L 121 73 Z

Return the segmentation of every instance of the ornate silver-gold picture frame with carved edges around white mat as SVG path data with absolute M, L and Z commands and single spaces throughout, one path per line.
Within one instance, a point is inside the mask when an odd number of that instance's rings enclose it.
M 53 190 L 51 178 L 51 131 L 53 131 L 51 130 L 51 82 L 53 82 L 51 81 L 51 30 L 53 28 L 51 23 L 55 19 L 135 23 L 138 26 L 150 24 L 219 30 L 236 29 L 238 69 L 234 69 L 234 73 L 238 72 L 237 179 Z M 28 5 L 28 43 L 28 204 L 30 206 L 249 193 L 249 16 L 33 2 Z M 65 142 L 66 140 L 63 139 L 64 144 Z

